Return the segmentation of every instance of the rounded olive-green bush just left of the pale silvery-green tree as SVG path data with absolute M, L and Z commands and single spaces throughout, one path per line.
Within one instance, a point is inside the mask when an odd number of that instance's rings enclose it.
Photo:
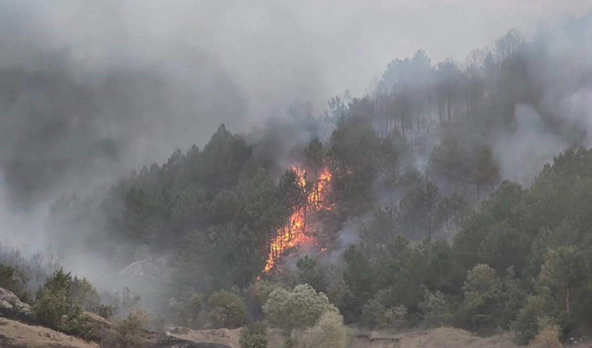
M 214 328 L 237 328 L 247 322 L 247 308 L 240 297 L 232 292 L 214 292 L 208 298 L 210 324 Z

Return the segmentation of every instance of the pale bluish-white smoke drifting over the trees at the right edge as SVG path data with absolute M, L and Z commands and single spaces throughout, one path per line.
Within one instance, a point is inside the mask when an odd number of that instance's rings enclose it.
M 501 178 L 529 185 L 545 163 L 572 146 L 592 146 L 592 11 L 539 28 L 523 58 L 542 91 L 516 104 L 514 130 L 494 137 Z

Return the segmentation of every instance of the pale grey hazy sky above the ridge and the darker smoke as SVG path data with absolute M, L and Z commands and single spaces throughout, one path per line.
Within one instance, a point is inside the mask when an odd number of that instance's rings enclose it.
M 350 88 L 362 94 L 394 57 L 426 50 L 464 59 L 512 27 L 583 13 L 585 0 L 160 0 L 31 2 L 59 43 L 96 56 L 154 59 L 192 44 L 242 87 L 249 118 L 294 96 L 323 104 Z M 28 5 L 23 5 L 28 4 Z

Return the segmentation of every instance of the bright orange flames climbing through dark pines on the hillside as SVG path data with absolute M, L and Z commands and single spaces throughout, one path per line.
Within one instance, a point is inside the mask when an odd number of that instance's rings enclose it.
M 292 167 L 292 170 L 298 175 L 298 185 L 304 189 L 307 183 L 306 171 L 297 167 Z M 307 225 L 307 216 L 323 210 L 331 210 L 326 199 L 331 179 L 331 172 L 327 168 L 323 169 L 318 175 L 313 189 L 308 192 L 307 203 L 304 207 L 292 212 L 288 224 L 278 230 L 275 240 L 272 241 L 269 247 L 269 256 L 263 272 L 268 273 L 274 269 L 285 250 L 303 246 L 313 241 L 312 237 L 307 234 L 310 231 L 310 226 Z

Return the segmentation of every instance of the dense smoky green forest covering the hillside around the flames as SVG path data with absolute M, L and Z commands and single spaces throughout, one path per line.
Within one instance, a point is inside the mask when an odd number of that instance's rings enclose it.
M 176 150 L 107 194 L 62 198 L 47 229 L 120 268 L 168 256 L 154 295 L 175 324 L 273 318 L 274 289 L 308 284 L 347 324 L 513 331 L 521 343 L 555 325 L 577 335 L 592 324 L 592 152 L 548 106 L 540 71 L 578 76 L 554 98 L 589 88 L 592 71 L 562 68 L 551 53 L 517 31 L 464 63 L 433 64 L 419 50 L 323 115 L 297 105 L 250 133 L 220 125 L 204 147 Z M 513 154 L 498 144 L 525 107 L 571 147 L 521 186 L 504 177 L 500 156 Z M 278 239 L 299 237 L 278 234 L 295 212 L 315 247 L 281 249 L 263 272 Z M 356 242 L 340 244 L 351 231 Z

